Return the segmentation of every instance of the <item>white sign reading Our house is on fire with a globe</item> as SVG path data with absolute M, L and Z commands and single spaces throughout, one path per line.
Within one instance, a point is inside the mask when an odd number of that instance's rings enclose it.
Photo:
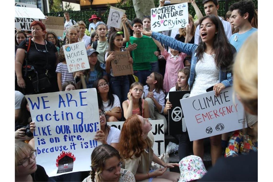
M 84 42 L 63 45 L 68 72 L 90 69 Z

